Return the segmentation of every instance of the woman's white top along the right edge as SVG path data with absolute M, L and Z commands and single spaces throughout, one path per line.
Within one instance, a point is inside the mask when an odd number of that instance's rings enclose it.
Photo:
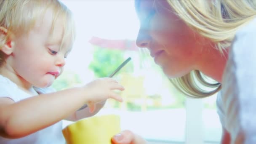
M 237 31 L 222 86 L 217 112 L 231 143 L 256 144 L 256 19 Z

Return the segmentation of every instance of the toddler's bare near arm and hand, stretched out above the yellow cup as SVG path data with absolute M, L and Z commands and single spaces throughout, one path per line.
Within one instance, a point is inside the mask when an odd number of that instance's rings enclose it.
M 112 98 L 122 101 L 112 90 L 124 90 L 112 78 L 101 78 L 81 88 L 33 96 L 14 102 L 0 98 L 0 136 L 21 138 L 63 120 L 84 104 Z

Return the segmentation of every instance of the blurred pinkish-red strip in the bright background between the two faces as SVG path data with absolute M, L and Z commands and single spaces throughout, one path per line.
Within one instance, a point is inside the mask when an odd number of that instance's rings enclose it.
M 107 40 L 99 37 L 92 37 L 91 40 L 89 40 L 89 43 L 102 48 L 112 48 L 128 51 L 139 50 L 134 40 Z

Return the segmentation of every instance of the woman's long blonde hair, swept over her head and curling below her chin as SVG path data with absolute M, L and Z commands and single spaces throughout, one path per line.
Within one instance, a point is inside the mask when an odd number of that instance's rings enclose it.
M 189 27 L 216 43 L 223 53 L 237 29 L 256 16 L 255 0 L 167 0 L 173 11 Z M 221 89 L 221 84 L 208 80 L 198 70 L 170 79 L 184 94 L 203 98 Z

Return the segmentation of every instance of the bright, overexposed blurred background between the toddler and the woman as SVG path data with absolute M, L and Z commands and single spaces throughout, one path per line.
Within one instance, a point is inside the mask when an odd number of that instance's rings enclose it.
M 190 99 L 177 91 L 135 40 L 139 31 L 133 0 L 61 0 L 74 13 L 77 38 L 56 90 L 107 77 L 125 59 L 132 60 L 114 78 L 124 102 L 109 99 L 97 115 L 117 114 L 150 144 L 219 144 L 221 125 L 216 96 Z M 64 121 L 63 127 L 72 122 Z

